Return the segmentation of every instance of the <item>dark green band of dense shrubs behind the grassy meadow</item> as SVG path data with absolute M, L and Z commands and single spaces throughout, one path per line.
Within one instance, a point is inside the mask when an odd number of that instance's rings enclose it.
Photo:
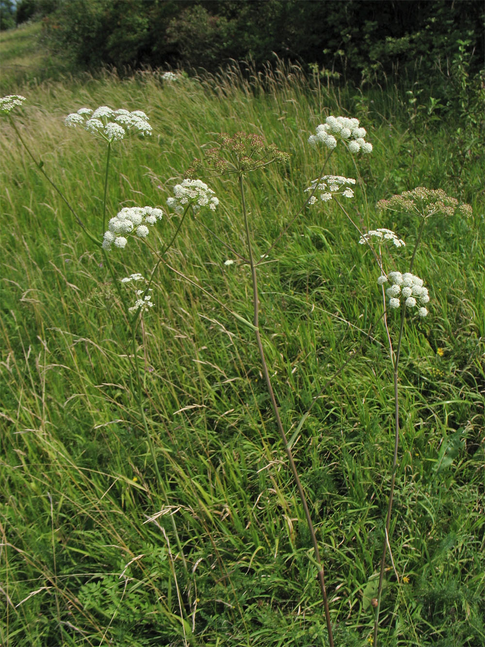
M 60 0 L 46 32 L 50 47 L 83 67 L 215 71 L 229 58 L 261 67 L 277 54 L 316 63 L 344 82 L 419 74 L 428 83 L 449 73 L 460 40 L 468 43 L 469 73 L 479 71 L 483 19 L 477 0 Z

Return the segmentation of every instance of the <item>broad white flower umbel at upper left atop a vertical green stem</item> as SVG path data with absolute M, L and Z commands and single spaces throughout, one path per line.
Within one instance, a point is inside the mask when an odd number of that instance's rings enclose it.
M 94 112 L 91 108 L 80 108 L 77 113 L 67 115 L 64 123 L 71 128 L 81 126 L 107 142 L 117 142 L 132 133 L 151 135 L 148 117 L 142 110 L 131 113 L 123 108 L 112 110 L 107 105 L 96 108 Z

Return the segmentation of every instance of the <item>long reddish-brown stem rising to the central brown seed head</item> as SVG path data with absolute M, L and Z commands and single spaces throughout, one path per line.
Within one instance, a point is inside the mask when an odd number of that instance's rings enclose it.
M 288 456 L 288 461 L 290 463 L 290 468 L 292 470 L 293 477 L 295 479 L 296 487 L 301 499 L 301 503 L 303 505 L 303 510 L 305 511 L 305 518 L 307 519 L 307 524 L 308 524 L 308 530 L 310 531 L 310 536 L 312 538 L 312 543 L 313 543 L 313 548 L 314 548 L 314 554 L 315 554 L 315 560 L 317 564 L 319 565 L 319 571 L 318 571 L 318 580 L 321 588 L 321 593 L 323 597 L 323 606 L 325 608 L 325 619 L 327 620 L 327 631 L 329 633 L 329 644 L 330 647 L 334 647 L 334 639 L 332 635 L 332 624 L 330 622 L 330 611 L 329 611 L 329 602 L 327 600 L 327 590 L 325 589 L 325 578 L 324 578 L 324 572 L 323 572 L 323 564 L 321 563 L 320 559 L 320 554 L 319 554 L 319 549 L 318 549 L 318 542 L 315 534 L 315 529 L 312 523 L 312 518 L 310 516 L 310 510 L 308 509 L 308 503 L 307 503 L 307 498 L 305 497 L 305 492 L 303 491 L 303 487 L 301 485 L 301 481 L 298 476 L 298 472 L 296 469 L 296 464 L 293 458 L 292 450 L 290 448 L 290 445 L 288 444 L 288 440 L 286 439 L 286 433 L 283 428 L 283 423 L 281 422 L 281 417 L 279 415 L 279 408 L 275 399 L 273 387 L 271 384 L 271 379 L 270 379 L 270 374 L 268 372 L 268 366 L 266 364 L 266 358 L 264 356 L 264 349 L 263 349 L 263 343 L 261 342 L 261 334 L 259 334 L 259 297 L 258 297 L 258 290 L 257 290 L 257 277 L 256 277 L 256 267 L 254 264 L 254 259 L 253 259 L 253 252 L 252 252 L 252 245 L 251 245 L 251 234 L 250 234 L 250 228 L 249 228 L 249 223 L 248 223 L 248 214 L 246 212 L 246 203 L 244 201 L 244 181 L 243 181 L 243 176 L 242 174 L 239 175 L 239 190 L 241 192 L 241 204 L 242 204 L 242 214 L 244 217 L 244 228 L 246 230 L 246 242 L 248 245 L 248 256 L 250 259 L 250 267 L 251 267 L 251 277 L 252 277 L 252 284 L 253 284 L 253 309 L 254 309 L 254 316 L 253 316 L 253 325 L 254 325 L 254 331 L 255 331 L 255 336 L 256 336 L 256 342 L 257 342 L 257 347 L 259 350 L 259 356 L 261 358 L 261 364 L 263 367 L 263 374 L 264 374 L 264 380 L 266 381 L 266 388 L 268 389 L 268 393 L 270 395 L 271 399 L 271 404 L 272 408 L 274 411 L 275 419 L 276 419 L 276 424 L 277 428 L 279 430 L 279 434 L 281 435 L 281 439 L 283 440 L 283 444 L 285 446 L 285 451 L 286 455 Z

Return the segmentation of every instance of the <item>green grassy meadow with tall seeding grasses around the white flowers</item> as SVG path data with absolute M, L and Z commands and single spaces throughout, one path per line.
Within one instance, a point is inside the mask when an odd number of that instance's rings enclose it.
M 336 88 L 283 63 L 264 73 L 234 63 L 172 83 L 147 70 L 4 76 L 2 86 L 25 96 L 9 116 L 100 243 L 107 147 L 64 118 L 102 105 L 149 116 L 151 136 L 113 144 L 105 205 L 108 218 L 145 205 L 164 217 L 149 245 L 131 237 L 106 252 L 116 280 L 151 276 L 156 250 L 180 225 L 167 197 L 217 133 L 257 133 L 289 153 L 248 173 L 246 209 L 260 261 L 259 330 L 339 646 L 373 641 L 393 369 L 380 270 L 356 228 L 333 200 L 305 206 L 292 222 L 325 155 L 308 137 L 329 115 L 356 117 L 367 130 L 372 154 L 354 159 L 339 144 L 325 173 L 356 179 L 342 204 L 361 231 L 389 228 L 405 240 L 386 248 L 388 269 L 409 266 L 420 221 L 380 213 L 378 201 L 425 186 L 471 205 L 469 217 L 429 219 L 414 261 L 429 314 L 406 316 L 400 347 L 378 644 L 484 644 L 479 133 L 432 102 L 413 103 L 405 87 Z M 135 362 L 102 249 L 9 116 L 1 121 L 1 644 L 326 646 L 312 540 L 243 321 L 253 320 L 253 292 L 237 181 L 204 178 L 219 206 L 188 216 L 158 265 Z M 388 311 L 387 325 L 395 347 L 400 316 Z

